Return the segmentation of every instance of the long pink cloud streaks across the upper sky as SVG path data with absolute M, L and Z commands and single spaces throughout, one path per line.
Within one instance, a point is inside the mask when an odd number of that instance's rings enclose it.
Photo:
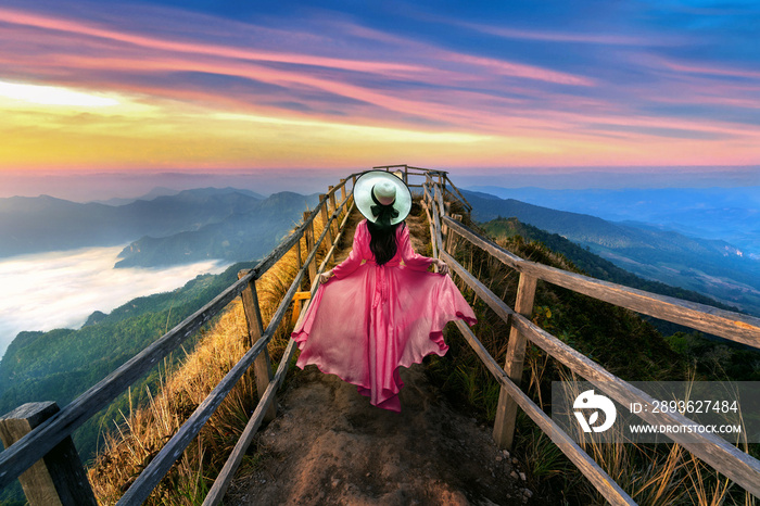
M 77 71 L 111 71 L 114 73 L 170 73 L 170 72 L 202 72 L 218 75 L 246 77 L 257 81 L 283 86 L 290 89 L 314 88 L 322 92 L 353 99 L 358 102 L 371 104 L 379 110 L 392 111 L 404 115 L 415 115 L 444 124 L 466 122 L 470 128 L 474 125 L 489 127 L 492 122 L 484 122 L 479 114 L 470 111 L 466 105 L 473 99 L 480 102 L 497 103 L 504 107 L 518 102 L 516 99 L 489 97 L 487 89 L 496 88 L 496 84 L 489 84 L 493 77 L 483 72 L 461 72 L 457 69 L 439 69 L 421 65 L 403 63 L 384 63 L 360 60 L 345 60 L 337 58 L 320 58 L 293 53 L 273 53 L 233 47 L 215 45 L 201 45 L 190 42 L 176 42 L 145 37 L 140 35 L 114 31 L 89 24 L 55 20 L 35 14 L 16 11 L 0 10 L 0 18 L 15 23 L 17 26 L 43 29 L 46 37 L 55 39 L 68 37 L 69 47 L 59 45 L 55 58 L 48 54 L 33 54 L 27 64 L 48 74 L 61 74 L 66 68 L 72 75 Z M 39 34 L 38 34 L 39 37 Z M 84 40 L 86 38 L 90 40 Z M 94 40 L 94 43 L 93 43 Z M 61 40 L 59 40 L 61 42 Z M 114 43 L 121 46 L 114 47 Z M 87 51 L 78 51 L 86 47 Z M 107 50 L 107 51 L 106 51 Z M 105 54 L 103 53 L 105 51 Z M 496 74 L 507 74 L 518 77 L 547 80 L 552 83 L 588 85 L 590 83 L 574 76 L 545 71 L 529 65 L 510 64 L 489 59 L 461 55 L 456 53 L 440 53 L 442 60 L 454 63 L 464 63 L 469 66 L 481 66 L 494 69 Z M 10 64 L 18 63 L 16 58 L 10 59 Z M 15 60 L 15 61 L 14 61 Z M 286 63 L 296 65 L 315 65 L 324 71 L 305 69 L 303 67 L 270 67 L 266 63 Z M 351 83 L 345 76 L 331 75 L 330 72 L 353 71 L 389 76 L 404 76 L 423 85 L 439 85 L 441 83 L 480 83 L 483 91 L 435 90 L 417 93 L 413 100 L 411 93 L 398 91 L 393 88 L 383 89 L 382 86 L 367 87 Z M 97 74 L 94 75 L 97 78 Z M 87 75 L 88 83 L 92 83 L 93 75 Z M 382 81 L 379 81 L 381 84 Z M 159 88 L 139 87 L 136 85 L 119 85 L 111 83 L 111 86 L 121 89 L 140 89 L 143 92 L 152 92 L 160 96 L 183 96 L 195 100 L 229 101 L 228 97 L 221 97 L 215 90 L 207 93 L 189 92 L 177 89 L 162 90 Z M 249 107 L 251 109 L 251 107 Z M 256 109 L 256 107 L 253 107 Z M 267 109 L 258 106 L 258 110 Z M 359 105 L 351 105 L 352 111 L 360 109 Z M 377 109 L 365 111 L 365 121 L 372 121 L 377 116 Z M 296 113 L 291 113 L 296 114 Z M 375 117 L 377 121 L 377 117 Z M 501 128 L 499 128 L 501 129 Z

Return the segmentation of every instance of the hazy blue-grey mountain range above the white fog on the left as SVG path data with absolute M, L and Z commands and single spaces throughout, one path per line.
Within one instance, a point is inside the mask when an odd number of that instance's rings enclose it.
M 119 266 L 251 260 L 267 253 L 317 201 L 316 194 L 264 198 L 233 188 L 187 190 L 123 205 L 46 195 L 0 199 L 0 257 L 131 242 Z

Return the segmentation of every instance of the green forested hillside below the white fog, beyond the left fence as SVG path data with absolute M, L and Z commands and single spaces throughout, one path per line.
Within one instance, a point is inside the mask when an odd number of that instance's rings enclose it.
M 134 299 L 110 315 L 96 312 L 90 325 L 78 330 L 21 332 L 0 362 L 0 413 L 27 402 L 55 401 L 65 406 L 216 296 L 237 279 L 240 268 L 252 266 L 237 264 L 217 276 L 199 276 L 173 292 Z M 191 340 L 186 349 L 193 345 Z M 144 385 L 156 379 L 154 371 L 137 383 L 134 401 L 143 400 Z M 123 397 L 75 433 L 83 460 L 94 455 L 101 427 L 109 426 L 128 404 Z

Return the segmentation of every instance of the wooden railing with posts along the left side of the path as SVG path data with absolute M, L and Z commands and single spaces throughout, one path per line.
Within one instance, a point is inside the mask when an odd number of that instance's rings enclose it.
M 54 403 L 30 403 L 2 417 L 0 433 L 3 435 L 5 450 L 0 453 L 0 489 L 21 477 L 27 499 L 33 506 L 97 504 L 86 475 L 81 470 L 81 464 L 76 458 L 76 450 L 71 442 L 71 434 L 125 392 L 138 378 L 157 366 L 164 357 L 177 350 L 230 302 L 241 296 L 249 325 L 250 350 L 151 460 L 117 503 L 119 505 L 142 504 L 181 456 L 185 448 L 198 435 L 238 380 L 254 365 L 254 376 L 259 395 L 257 407 L 203 503 L 204 505 L 218 504 L 253 434 L 265 418 L 274 416 L 275 392 L 288 370 L 288 364 L 295 350 L 294 342 L 291 340 L 277 372 L 273 376 L 266 349 L 267 343 L 282 321 L 288 307 L 301 288 L 302 280 L 307 275 L 312 290 L 316 290 L 317 278 L 334 254 L 337 244 L 343 236 L 349 215 L 354 208 L 353 194 L 347 191 L 346 182 L 350 180 L 355 184 L 357 176 L 358 174 L 351 175 L 347 179 L 342 179 L 337 187 L 330 187 L 327 194 L 320 195 L 316 208 L 311 213 L 304 213 L 303 224 L 253 269 L 241 271 L 237 282 L 63 409 L 59 410 Z M 339 192 L 340 202 L 337 198 Z M 317 216 L 321 218 L 324 228 L 320 236 L 315 238 L 314 222 Z M 341 217 L 342 222 L 339 224 L 338 220 Z M 326 239 L 330 249 L 322 263 L 317 267 L 317 250 Z M 302 248 L 307 251 L 303 265 L 301 263 Z M 256 295 L 256 280 L 292 249 L 296 251 L 299 271 L 267 328 L 264 329 Z M 62 451 L 62 448 L 64 450 Z M 71 466 L 73 461 L 75 465 Z M 59 469 L 61 467 L 66 469 L 61 471 Z M 74 469 L 71 470 L 69 467 Z

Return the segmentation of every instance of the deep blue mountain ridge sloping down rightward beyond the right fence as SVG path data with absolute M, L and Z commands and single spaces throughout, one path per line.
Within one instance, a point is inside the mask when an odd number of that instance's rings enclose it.
M 760 262 L 743 256 L 720 240 L 697 239 L 632 223 L 611 223 L 486 193 L 463 191 L 472 217 L 489 222 L 516 217 L 558 233 L 619 267 L 642 276 L 709 294 L 723 303 L 760 315 Z

